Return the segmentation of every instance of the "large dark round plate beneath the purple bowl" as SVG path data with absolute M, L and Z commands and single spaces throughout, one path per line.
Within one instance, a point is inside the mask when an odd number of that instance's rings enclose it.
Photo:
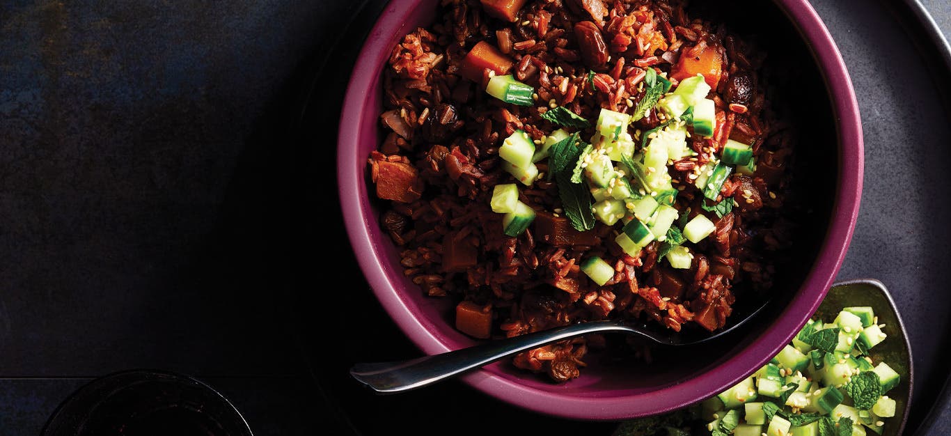
M 939 353 L 951 340 L 951 293 L 943 277 L 951 270 L 943 248 L 951 247 L 951 208 L 945 199 L 951 191 L 951 172 L 943 166 L 951 162 L 948 120 L 951 105 L 945 62 L 946 46 L 936 40 L 940 33 L 922 21 L 916 3 L 903 1 L 863 2 L 861 8 L 838 0 L 811 2 L 823 17 L 843 52 L 858 94 L 864 122 L 865 180 L 862 209 L 855 236 L 838 279 L 874 277 L 889 288 L 907 321 L 908 337 L 916 357 L 916 390 L 911 399 L 905 434 L 935 428 L 931 407 L 941 404 L 941 386 L 948 377 Z M 301 114 L 307 144 L 331 147 L 342 97 L 342 84 L 349 75 L 359 46 L 385 2 L 371 0 L 349 20 L 327 63 L 315 82 Z M 923 15 L 926 17 L 926 15 Z M 330 85 L 328 85 L 330 84 Z M 315 151 L 315 158 L 322 151 Z M 328 170 L 332 158 L 323 157 L 312 165 L 309 186 L 329 189 L 335 176 Z M 308 185 L 308 184 L 305 184 Z M 940 201 L 934 201 L 941 199 Z M 308 211 L 310 217 L 327 213 L 335 199 L 320 199 L 322 207 Z M 310 233 L 340 233 L 336 228 L 314 228 Z M 344 239 L 340 237 L 339 241 Z M 328 407 L 340 411 L 341 426 L 355 434 L 383 434 L 395 429 L 417 434 L 484 434 L 498 430 L 499 422 L 512 422 L 507 432 L 525 430 L 548 434 L 611 434 L 613 425 L 578 423 L 539 416 L 499 404 L 494 399 L 456 382 L 407 392 L 377 396 L 362 389 L 346 375 L 356 362 L 385 356 L 397 360 L 416 357 L 418 351 L 386 317 L 363 281 L 352 255 L 341 254 L 336 265 L 340 274 L 353 280 L 347 288 L 347 307 L 359 309 L 359 327 L 351 311 L 338 311 L 327 319 L 305 318 L 304 347 L 310 350 L 315 376 L 326 395 Z M 305 284 L 306 285 L 306 284 Z M 322 289 L 323 287 L 311 288 Z M 324 300 L 313 297 L 301 305 L 320 307 Z M 928 313 L 929 316 L 916 316 Z M 344 331 L 328 337 L 326 328 Z M 939 381 L 939 382 L 936 382 Z M 938 410 L 941 412 L 941 409 Z M 491 416 L 493 419 L 474 419 Z M 943 423 L 951 425 L 951 423 Z

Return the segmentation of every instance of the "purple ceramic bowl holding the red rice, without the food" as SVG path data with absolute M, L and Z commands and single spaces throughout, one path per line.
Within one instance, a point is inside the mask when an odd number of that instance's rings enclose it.
M 436 5 L 437 0 L 399 0 L 382 12 L 359 53 L 344 97 L 338 145 L 340 203 L 359 266 L 382 307 L 427 354 L 475 342 L 455 329 L 452 302 L 426 297 L 403 276 L 398 249 L 378 226 L 367 158 L 381 138 L 381 72 L 390 50 L 408 31 L 431 24 Z M 465 383 L 511 405 L 569 419 L 621 420 L 662 413 L 704 400 L 751 374 L 819 307 L 842 264 L 859 211 L 863 179 L 859 109 L 840 52 L 816 11 L 805 0 L 759 5 L 774 9 L 775 19 L 785 20 L 792 38 L 804 47 L 802 61 L 818 69 L 816 88 L 822 101 L 810 105 L 827 105 L 827 153 L 837 157 L 826 171 L 824 186 L 831 197 L 827 216 L 822 228 L 812 229 L 818 235 L 815 248 L 804 261 L 808 262 L 804 273 L 790 285 L 785 306 L 761 328 L 747 329 L 727 349 L 681 356 L 672 364 L 616 367 L 589 362 L 581 377 L 556 385 L 503 361 L 464 375 Z M 810 140 L 814 144 L 816 138 Z M 831 151 L 834 148 L 837 152 Z

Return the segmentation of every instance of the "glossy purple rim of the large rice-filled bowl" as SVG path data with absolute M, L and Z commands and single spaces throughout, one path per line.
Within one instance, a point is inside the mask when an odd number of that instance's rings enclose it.
M 365 167 L 354 165 L 355 141 L 359 136 L 364 109 L 370 102 L 379 63 L 388 58 L 389 42 L 403 31 L 409 14 L 426 0 L 390 2 L 368 33 L 357 58 L 340 112 L 338 132 L 338 189 L 342 218 L 359 267 L 379 303 L 402 332 L 427 354 L 449 351 L 399 297 L 400 291 L 386 279 L 381 263 L 382 249 L 369 234 L 378 226 L 361 202 L 359 189 L 365 183 Z M 840 155 L 839 177 L 832 216 L 825 240 L 812 268 L 780 318 L 756 342 L 723 362 L 719 367 L 683 383 L 666 386 L 636 396 L 578 396 L 542 391 L 507 379 L 485 369 L 461 376 L 462 381 L 497 400 L 534 412 L 567 419 L 611 421 L 668 412 L 702 401 L 733 386 L 757 367 L 764 365 L 784 347 L 822 303 L 842 266 L 859 213 L 864 172 L 864 140 L 859 105 L 842 54 L 816 10 L 807 0 L 773 0 L 799 31 L 812 52 L 825 80 Z M 345 150 L 354 150 L 344 152 Z M 356 156 L 365 162 L 365 156 Z M 636 401 L 631 401 L 635 399 Z

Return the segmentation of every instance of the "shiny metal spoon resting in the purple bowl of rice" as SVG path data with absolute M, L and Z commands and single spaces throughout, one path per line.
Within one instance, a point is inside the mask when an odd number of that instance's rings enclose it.
M 674 332 L 655 325 L 638 324 L 621 320 L 592 321 L 555 327 L 548 330 L 489 341 L 474 347 L 424 356 L 401 362 L 361 363 L 350 369 L 350 375 L 366 386 L 382 393 L 394 393 L 432 385 L 476 367 L 491 364 L 515 353 L 542 347 L 553 342 L 576 336 L 600 332 L 630 333 L 664 346 L 683 347 L 712 341 L 733 331 L 753 318 L 769 300 L 748 312 L 745 317 L 731 319 L 732 325 L 710 334 L 707 330 L 684 329 Z

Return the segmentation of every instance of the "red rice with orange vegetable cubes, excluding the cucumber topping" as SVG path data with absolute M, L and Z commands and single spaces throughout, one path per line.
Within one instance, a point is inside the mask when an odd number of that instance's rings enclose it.
M 503 3 L 514 10 L 484 6 Z M 690 18 L 685 8 L 676 0 L 444 0 L 434 26 L 413 30 L 394 48 L 383 78 L 386 136 L 369 159 L 385 205 L 380 225 L 401 248 L 406 276 L 429 296 L 457 301 L 461 331 L 511 337 L 615 317 L 713 331 L 724 327 L 741 289 L 772 286 L 771 253 L 790 245 L 776 218 L 784 207 L 792 131 L 767 105 L 765 56 L 725 26 Z M 508 71 L 467 64 L 480 42 L 491 44 Z M 602 108 L 631 113 L 646 92 L 647 69 L 676 86 L 685 56 L 713 59 L 716 70 L 708 77 L 716 129 L 709 137 L 691 135 L 696 154 L 670 164 L 674 187 L 682 187 L 674 206 L 689 217 L 703 213 L 716 226 L 690 247 L 690 268 L 662 263 L 657 241 L 636 257 L 626 254 L 613 242 L 617 227 L 575 230 L 560 213 L 557 185 L 544 176 L 531 187 L 519 185 L 520 201 L 537 212 L 533 225 L 517 237 L 503 234 L 502 214 L 490 208 L 490 198 L 495 185 L 515 183 L 500 168 L 506 137 L 522 129 L 536 144 L 544 141 L 559 127 L 541 113 L 557 106 L 588 120 Z M 534 106 L 487 94 L 496 73 L 534 87 Z M 651 110 L 628 133 L 639 139 L 662 116 Z M 703 192 L 686 181 L 728 139 L 751 145 L 757 168 L 724 183 L 718 200 L 732 198 L 735 206 L 718 217 L 700 207 Z M 545 173 L 546 161 L 537 167 Z M 604 286 L 579 268 L 592 254 L 614 268 Z M 567 381 L 584 367 L 590 341 L 540 347 L 513 363 Z

